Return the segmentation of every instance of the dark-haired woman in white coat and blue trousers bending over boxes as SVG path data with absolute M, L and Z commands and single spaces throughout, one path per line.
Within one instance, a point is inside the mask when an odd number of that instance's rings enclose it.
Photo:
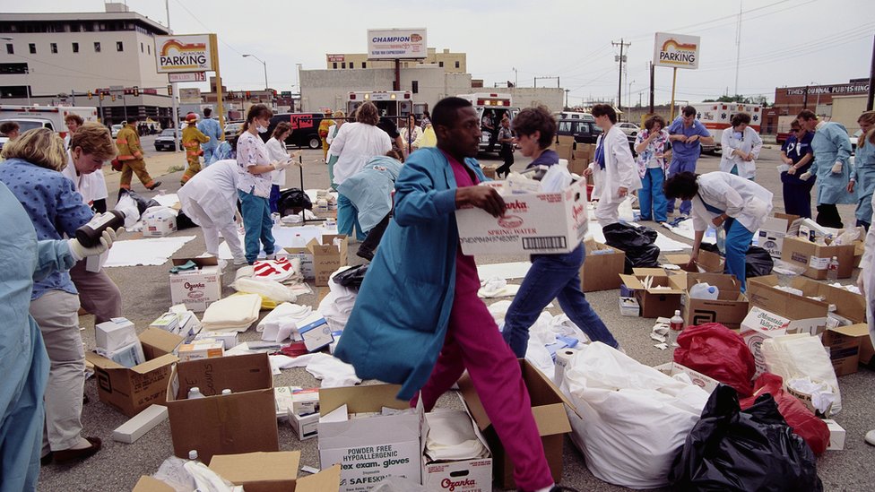
M 665 182 L 665 196 L 692 202 L 696 234 L 690 263 L 697 261 L 708 225 L 723 226 L 726 230 L 726 270 L 735 275 L 741 283 L 741 291 L 745 291 L 745 255 L 754 232 L 772 211 L 772 192 L 730 173 L 697 175 L 683 172 Z

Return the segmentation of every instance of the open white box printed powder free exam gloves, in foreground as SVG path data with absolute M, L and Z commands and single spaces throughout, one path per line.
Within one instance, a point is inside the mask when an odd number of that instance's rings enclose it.
M 421 483 L 420 437 L 425 418 L 401 389 L 376 384 L 319 391 L 319 461 L 341 465 L 343 492 L 366 492 L 393 475 Z

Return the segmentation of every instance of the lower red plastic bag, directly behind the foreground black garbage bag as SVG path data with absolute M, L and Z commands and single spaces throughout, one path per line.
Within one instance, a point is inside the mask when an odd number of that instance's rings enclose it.
M 787 421 L 787 425 L 793 428 L 793 432 L 797 436 L 805 439 L 811 451 L 815 454 L 821 454 L 827 450 L 829 427 L 823 420 L 811 413 L 805 403 L 784 391 L 784 379 L 780 375 L 770 373 L 759 375 L 754 388 L 753 396 L 739 401 L 741 410 L 752 406 L 760 394 L 769 393 L 778 404 L 778 411 Z

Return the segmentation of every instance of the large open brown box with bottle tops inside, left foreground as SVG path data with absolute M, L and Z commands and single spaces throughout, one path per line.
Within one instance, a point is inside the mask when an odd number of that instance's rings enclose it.
M 197 386 L 205 398 L 187 400 Z M 230 389 L 231 394 L 221 394 Z M 273 370 L 267 354 L 180 362 L 166 387 L 173 453 L 213 454 L 279 451 Z

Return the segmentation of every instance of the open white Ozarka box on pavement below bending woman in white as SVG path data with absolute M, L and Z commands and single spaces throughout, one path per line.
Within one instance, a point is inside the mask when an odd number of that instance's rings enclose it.
M 217 258 L 173 258 L 172 262 L 174 266 L 195 263 L 192 270 L 170 273 L 170 300 L 173 304 L 185 304 L 192 311 L 204 311 L 221 299 L 221 270 Z

